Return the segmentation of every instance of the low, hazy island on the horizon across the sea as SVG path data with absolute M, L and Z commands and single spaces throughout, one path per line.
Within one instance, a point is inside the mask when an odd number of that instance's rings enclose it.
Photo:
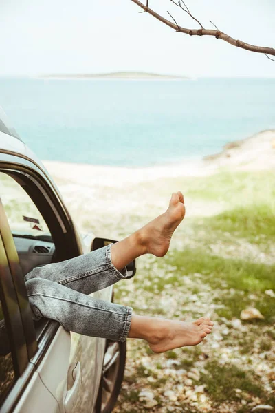
M 98 73 L 98 74 L 45 74 L 39 76 L 44 79 L 135 79 L 135 80 L 176 80 L 176 79 L 188 79 L 188 76 L 180 76 L 177 74 L 158 74 L 147 72 L 110 72 L 110 73 Z

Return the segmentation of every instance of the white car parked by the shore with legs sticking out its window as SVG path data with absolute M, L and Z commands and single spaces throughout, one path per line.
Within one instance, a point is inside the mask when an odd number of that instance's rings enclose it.
M 0 109 L 0 413 L 107 413 L 126 343 L 32 320 L 24 275 L 113 240 L 82 235 L 43 163 Z M 128 277 L 135 275 L 131 262 Z M 112 286 L 93 294 L 113 300 Z

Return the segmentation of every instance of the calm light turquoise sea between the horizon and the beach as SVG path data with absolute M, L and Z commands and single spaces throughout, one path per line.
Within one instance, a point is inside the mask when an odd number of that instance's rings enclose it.
M 147 167 L 275 129 L 275 78 L 0 78 L 0 106 L 43 160 Z

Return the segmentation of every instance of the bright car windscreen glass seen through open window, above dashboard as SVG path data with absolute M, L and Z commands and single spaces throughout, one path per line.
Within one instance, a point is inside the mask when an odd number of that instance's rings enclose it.
M 28 193 L 10 176 L 0 172 L 0 194 L 13 235 L 50 235 L 41 213 Z

